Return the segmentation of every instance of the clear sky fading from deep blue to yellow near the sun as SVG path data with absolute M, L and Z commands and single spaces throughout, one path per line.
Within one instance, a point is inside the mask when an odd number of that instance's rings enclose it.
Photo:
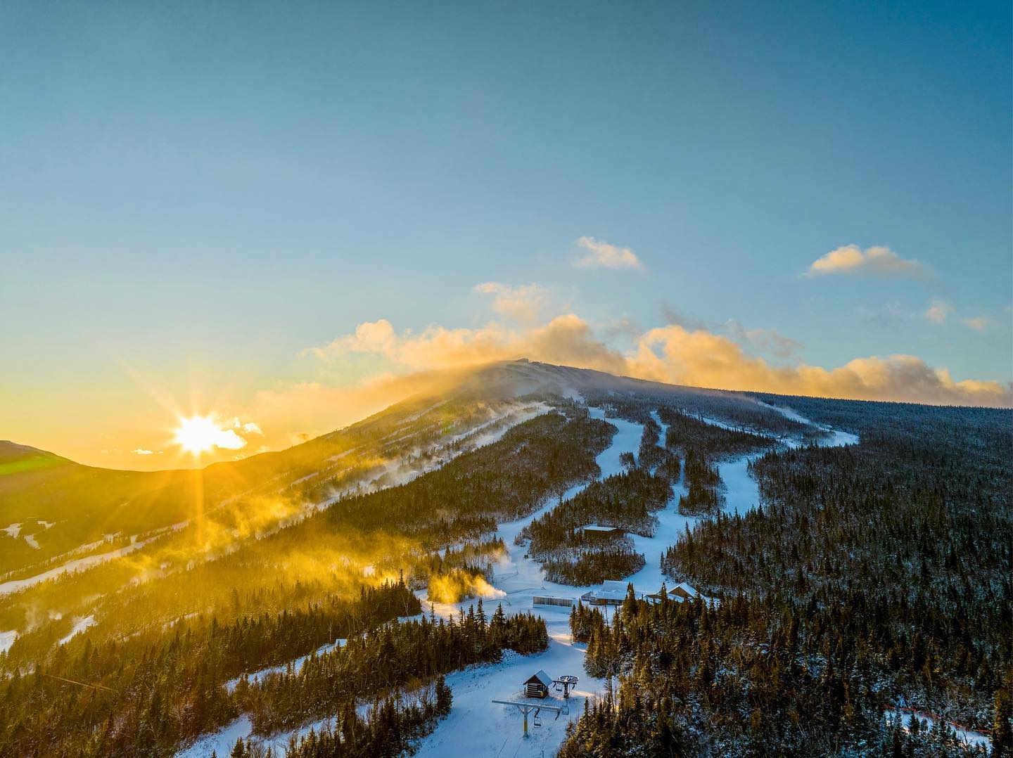
M 206 6 L 0 9 L 0 436 L 101 462 L 158 444 L 156 395 L 253 415 L 444 365 L 303 352 L 381 319 L 1013 378 L 1008 3 Z M 852 244 L 924 275 L 805 275 Z

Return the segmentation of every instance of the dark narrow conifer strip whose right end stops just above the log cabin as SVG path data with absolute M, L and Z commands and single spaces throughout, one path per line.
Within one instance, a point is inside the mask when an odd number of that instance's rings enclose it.
M 357 699 L 369 701 L 471 664 L 499 661 L 504 649 L 527 655 L 547 647 L 543 619 L 530 613 L 508 617 L 502 606 L 486 618 L 479 600 L 477 609 L 471 606 L 457 620 L 388 623 L 310 656 L 298 671 L 290 667 L 256 683 L 240 681 L 236 702 L 250 713 L 255 734 L 269 735 L 340 713 Z

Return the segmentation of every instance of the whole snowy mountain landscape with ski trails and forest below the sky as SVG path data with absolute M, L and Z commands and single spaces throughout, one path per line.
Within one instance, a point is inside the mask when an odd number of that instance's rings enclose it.
M 0 753 L 999 751 L 1011 420 L 519 360 L 203 472 L 4 443 Z

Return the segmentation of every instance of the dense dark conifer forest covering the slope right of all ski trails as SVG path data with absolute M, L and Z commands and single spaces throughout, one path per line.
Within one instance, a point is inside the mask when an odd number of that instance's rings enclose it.
M 1013 751 L 1009 413 L 798 405 L 860 443 L 769 450 L 752 465 L 760 509 L 669 549 L 663 569 L 715 606 L 574 610 L 589 673 L 617 679 L 561 756 L 966 754 L 888 706 Z

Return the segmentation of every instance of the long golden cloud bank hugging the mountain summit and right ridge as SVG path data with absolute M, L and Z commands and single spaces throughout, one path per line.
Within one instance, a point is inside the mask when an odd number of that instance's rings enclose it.
M 389 322 L 360 325 L 356 335 L 339 337 L 316 354 L 336 357 L 349 350 L 382 354 L 395 374 L 364 385 L 361 393 L 395 390 L 409 382 L 397 372 L 463 368 L 528 357 L 551 363 L 596 368 L 610 373 L 670 384 L 721 390 L 746 390 L 854 400 L 890 400 L 952 405 L 1013 405 L 1013 390 L 998 382 L 954 381 L 945 368 L 933 368 L 914 355 L 855 358 L 843 366 L 793 363 L 772 365 L 746 352 L 733 340 L 706 329 L 672 324 L 651 329 L 634 340 L 627 352 L 599 340 L 590 324 L 574 314 L 519 331 L 491 323 L 477 329 L 431 326 L 413 334 L 396 334 Z M 389 327 L 389 329 L 388 329 Z M 382 339 L 361 338 L 382 334 Z M 320 388 L 319 392 L 332 392 Z M 340 391 L 342 393 L 348 391 Z M 403 397 L 403 396 L 402 396 Z M 258 411 L 259 412 L 259 411 Z

